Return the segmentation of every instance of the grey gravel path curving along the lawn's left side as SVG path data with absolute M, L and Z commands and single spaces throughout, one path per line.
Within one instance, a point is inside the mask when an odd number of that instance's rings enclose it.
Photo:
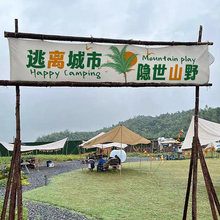
M 146 161 L 148 158 L 142 158 L 142 161 Z M 139 157 L 127 158 L 126 162 L 140 161 Z M 63 163 L 57 163 L 54 167 L 47 167 L 45 165 L 39 166 L 39 171 L 36 169 L 29 169 L 30 173 L 24 169 L 23 172 L 28 176 L 29 185 L 23 186 L 23 192 L 33 190 L 38 187 L 49 184 L 49 179 L 61 173 L 70 172 L 76 169 L 80 169 L 80 161 L 69 161 Z M 5 188 L 0 188 L 0 194 L 4 195 Z M 87 217 L 78 215 L 76 213 L 57 208 L 44 203 L 25 201 L 25 206 L 28 209 L 28 219 L 31 220 L 89 220 Z

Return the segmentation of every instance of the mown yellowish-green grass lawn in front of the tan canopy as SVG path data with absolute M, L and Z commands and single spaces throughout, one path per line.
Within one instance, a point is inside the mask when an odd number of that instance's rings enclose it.
M 118 171 L 76 170 L 24 193 L 28 200 L 63 207 L 93 219 L 181 219 L 189 160 L 123 164 Z M 220 159 L 207 159 L 220 198 Z M 201 169 L 198 172 L 198 219 L 212 219 Z M 191 219 L 191 202 L 188 218 Z

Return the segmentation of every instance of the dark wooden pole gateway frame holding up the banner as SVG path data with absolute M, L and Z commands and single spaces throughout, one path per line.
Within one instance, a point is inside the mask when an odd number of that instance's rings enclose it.
M 99 42 L 99 43 L 117 43 L 117 44 L 136 44 L 136 45 L 213 45 L 212 42 L 201 42 L 202 26 L 200 26 L 199 38 L 197 42 L 153 42 L 153 41 L 137 41 L 137 40 L 119 40 L 119 39 L 105 39 L 105 38 L 86 38 L 86 37 L 72 37 L 72 36 L 58 36 L 58 35 L 42 35 L 33 33 L 19 33 L 18 20 L 15 19 L 15 32 L 5 32 L 5 37 L 14 38 L 31 38 L 41 40 L 58 40 L 58 41 L 80 41 L 80 42 Z M 211 86 L 207 83 L 200 86 Z M 16 138 L 13 156 L 11 160 L 11 168 L 8 176 L 5 199 L 1 213 L 1 219 L 5 219 L 8 200 L 10 197 L 9 219 L 15 219 L 15 210 L 17 206 L 18 219 L 22 219 L 22 185 L 20 174 L 20 160 L 21 160 L 21 140 L 20 140 L 20 89 L 19 86 L 33 86 L 33 87 L 180 87 L 193 86 L 195 87 L 195 117 L 194 117 L 194 138 L 192 144 L 192 154 L 189 167 L 188 185 L 186 190 L 185 206 L 183 211 L 183 219 L 187 217 L 189 194 L 192 183 L 192 219 L 197 219 L 197 166 L 198 155 L 203 171 L 203 176 L 207 188 L 210 207 L 213 219 L 217 220 L 217 213 L 215 206 L 220 215 L 220 204 L 217 198 L 206 162 L 203 156 L 202 148 L 198 138 L 198 113 L 199 113 L 199 86 L 196 84 L 155 84 L 155 83 L 80 83 L 80 82 L 33 82 L 33 81 L 9 81 L 0 80 L 0 86 L 15 86 L 16 87 Z

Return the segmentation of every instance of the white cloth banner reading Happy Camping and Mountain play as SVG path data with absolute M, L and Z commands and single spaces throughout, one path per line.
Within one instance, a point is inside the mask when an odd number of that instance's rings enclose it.
M 8 40 L 11 80 L 198 85 L 209 82 L 207 45 L 147 48 Z

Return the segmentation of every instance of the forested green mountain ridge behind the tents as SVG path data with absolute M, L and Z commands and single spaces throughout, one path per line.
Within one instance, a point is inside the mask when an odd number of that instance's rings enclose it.
M 181 129 L 184 130 L 183 137 L 185 137 L 193 115 L 193 109 L 181 112 L 178 111 L 176 113 L 161 114 L 155 117 L 140 115 L 97 131 L 70 132 L 65 130 L 39 137 L 36 141 L 57 141 L 65 137 L 68 137 L 69 140 L 88 140 L 100 132 L 107 132 L 120 124 L 123 124 L 132 131 L 148 139 L 156 139 L 158 137 L 177 138 Z M 220 123 L 220 107 L 210 108 L 206 106 L 204 109 L 200 109 L 199 117 Z

